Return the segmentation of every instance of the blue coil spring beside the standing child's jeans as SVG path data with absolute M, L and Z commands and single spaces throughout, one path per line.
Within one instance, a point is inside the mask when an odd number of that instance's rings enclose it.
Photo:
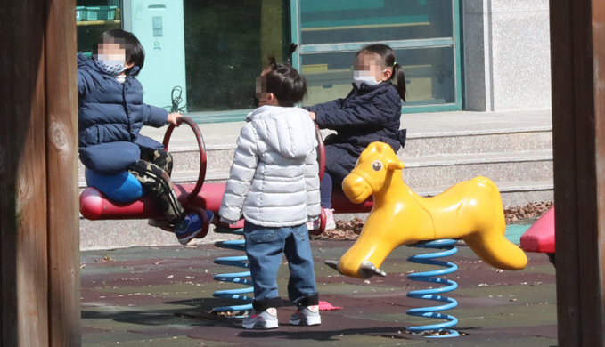
M 216 228 L 215 232 L 243 236 L 243 230 L 241 229 Z M 215 246 L 219 248 L 233 249 L 236 251 L 246 252 L 245 241 L 243 239 L 218 241 L 215 242 Z M 227 265 L 237 268 L 249 269 L 248 257 L 245 254 L 219 257 L 214 260 L 214 263 L 219 265 Z M 247 286 L 238 289 L 218 290 L 214 292 L 214 294 L 212 295 L 214 297 L 223 299 L 233 299 L 243 302 L 245 304 L 215 307 L 214 309 L 212 309 L 213 312 L 234 312 L 252 310 L 252 297 L 247 295 L 250 293 L 254 293 L 254 287 L 252 285 L 252 280 L 250 279 L 249 270 L 243 272 L 220 273 L 215 275 L 213 279 L 221 282 L 239 283 L 241 285 Z

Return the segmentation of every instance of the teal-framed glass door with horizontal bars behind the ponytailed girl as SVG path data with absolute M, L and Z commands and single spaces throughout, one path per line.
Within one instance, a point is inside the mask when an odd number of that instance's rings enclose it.
M 462 109 L 459 0 L 291 0 L 296 67 L 308 82 L 304 105 L 351 90 L 355 53 L 390 45 L 405 71 L 403 112 Z

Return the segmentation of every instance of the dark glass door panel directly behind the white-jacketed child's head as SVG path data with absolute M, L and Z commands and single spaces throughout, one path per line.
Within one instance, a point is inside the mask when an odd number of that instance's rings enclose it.
M 241 121 L 255 108 L 267 57 L 286 59 L 289 0 L 184 0 L 187 109 L 197 122 Z

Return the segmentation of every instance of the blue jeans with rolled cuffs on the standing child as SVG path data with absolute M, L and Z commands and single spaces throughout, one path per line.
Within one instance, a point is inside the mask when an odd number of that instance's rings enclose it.
M 268 307 L 281 306 L 282 299 L 277 291 L 277 271 L 282 253 L 286 255 L 290 268 L 290 301 L 305 306 L 319 303 L 306 224 L 270 228 L 244 222 L 243 231 L 254 283 L 252 304 L 255 310 L 264 311 Z

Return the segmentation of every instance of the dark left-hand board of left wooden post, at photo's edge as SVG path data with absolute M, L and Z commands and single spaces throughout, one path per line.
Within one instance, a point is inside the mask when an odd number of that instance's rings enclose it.
M 48 345 L 45 6 L 0 5 L 2 344 Z

